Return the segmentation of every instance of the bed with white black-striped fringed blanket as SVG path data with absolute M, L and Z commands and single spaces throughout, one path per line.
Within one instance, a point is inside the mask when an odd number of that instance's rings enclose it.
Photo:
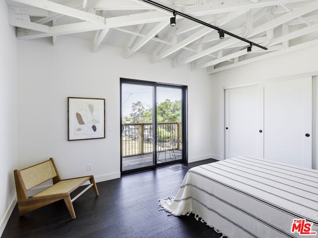
M 239 156 L 190 169 L 159 205 L 196 214 L 228 238 L 316 238 L 318 171 Z

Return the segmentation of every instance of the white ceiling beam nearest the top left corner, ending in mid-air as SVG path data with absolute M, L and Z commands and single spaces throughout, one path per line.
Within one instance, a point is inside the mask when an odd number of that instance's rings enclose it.
M 60 13 L 66 16 L 71 16 L 81 20 L 90 21 L 90 22 L 102 24 L 102 25 L 105 24 L 104 17 L 98 16 L 92 13 L 88 13 L 85 11 L 81 11 L 81 10 L 78 10 L 69 6 L 65 6 L 62 4 L 58 4 L 52 1 L 48 1 L 48 0 L 14 0 L 14 1 L 24 3 L 30 6 L 39 7 L 45 10 L 54 11 L 56 13 Z

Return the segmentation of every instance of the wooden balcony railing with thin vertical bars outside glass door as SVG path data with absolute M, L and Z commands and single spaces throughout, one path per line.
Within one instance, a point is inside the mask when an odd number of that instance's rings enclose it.
M 181 147 L 181 122 L 158 122 L 157 142 L 175 138 L 178 143 L 176 149 Z M 154 131 L 152 123 L 123 123 L 122 156 L 135 156 L 153 153 Z M 157 146 L 157 151 L 160 151 Z

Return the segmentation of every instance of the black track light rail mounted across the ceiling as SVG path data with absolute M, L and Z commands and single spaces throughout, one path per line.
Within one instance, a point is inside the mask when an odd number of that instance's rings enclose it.
M 180 15 L 180 16 L 183 16 L 184 18 L 187 18 L 187 19 L 189 19 L 189 20 L 195 21 L 195 22 L 197 22 L 197 23 L 199 23 L 199 24 L 201 24 L 201 25 L 204 25 L 204 26 L 213 28 L 214 30 L 217 30 L 218 32 L 223 31 L 225 34 L 227 34 L 227 35 L 229 35 L 229 36 L 232 36 L 232 37 L 234 37 L 234 38 L 237 38 L 237 39 L 239 39 L 239 40 L 241 40 L 241 41 L 244 41 L 244 42 L 248 43 L 250 46 L 257 46 L 257 47 L 259 47 L 259 48 L 261 48 L 261 49 L 263 49 L 263 50 L 268 50 L 266 47 L 263 47 L 263 46 L 261 46 L 261 45 L 258 45 L 258 44 L 256 44 L 256 43 L 252 42 L 252 41 L 249 41 L 249 40 L 247 40 L 247 39 L 245 39 L 245 38 L 242 38 L 242 37 L 240 37 L 240 36 L 238 36 L 238 35 L 235 35 L 235 34 L 233 34 L 233 33 L 231 33 L 231 32 L 228 32 L 228 31 L 226 31 L 226 30 L 223 30 L 223 29 L 221 29 L 221 28 L 219 28 L 219 27 L 217 27 L 217 26 L 213 26 L 213 25 L 211 25 L 211 24 L 209 24 L 209 23 L 207 23 L 207 22 L 201 21 L 201 20 L 199 20 L 199 19 L 197 19 L 197 18 L 195 18 L 195 17 L 193 17 L 193 16 L 187 15 L 187 14 L 182 13 L 182 12 L 180 12 L 180 11 L 176 11 L 176 10 L 174 10 L 174 9 L 172 9 L 172 8 L 170 8 L 170 7 L 164 6 L 164 5 L 162 5 L 162 4 L 158 3 L 158 2 L 155 2 L 155 1 L 152 1 L 152 0 L 141 0 L 141 1 L 147 2 L 147 3 L 152 4 L 152 5 L 154 5 L 154 6 L 158 6 L 158 7 L 162 8 L 162 9 L 164 9 L 164 10 L 166 10 L 166 11 L 170 11 L 170 12 L 173 13 L 174 16 L 175 16 L 175 15 Z

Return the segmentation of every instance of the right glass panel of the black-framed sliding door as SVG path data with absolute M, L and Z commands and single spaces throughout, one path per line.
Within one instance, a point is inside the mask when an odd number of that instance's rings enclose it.
M 156 87 L 157 163 L 182 160 L 182 89 Z

